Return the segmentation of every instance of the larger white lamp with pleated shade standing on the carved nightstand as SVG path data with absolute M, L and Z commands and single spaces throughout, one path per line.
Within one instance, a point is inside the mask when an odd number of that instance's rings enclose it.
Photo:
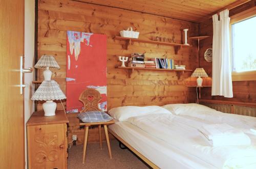
M 42 108 L 45 111 L 45 116 L 55 116 L 57 104 L 53 100 L 66 99 L 65 94 L 59 88 L 59 85 L 54 80 L 42 81 L 39 88 L 33 94 L 31 100 L 45 100 Z

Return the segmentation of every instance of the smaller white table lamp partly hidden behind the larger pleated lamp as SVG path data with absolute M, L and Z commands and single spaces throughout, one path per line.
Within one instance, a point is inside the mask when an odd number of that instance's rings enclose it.
M 60 69 L 59 65 L 55 61 L 54 57 L 52 55 L 42 55 L 39 61 L 34 66 L 37 69 L 44 69 L 44 78 L 45 80 L 51 80 L 52 77 L 52 71 L 51 69 Z

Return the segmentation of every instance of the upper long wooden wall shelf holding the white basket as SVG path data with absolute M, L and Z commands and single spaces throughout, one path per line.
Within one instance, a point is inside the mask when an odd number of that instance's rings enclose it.
M 114 40 L 126 41 L 126 49 L 129 49 L 129 45 L 132 45 L 134 42 L 142 42 L 142 43 L 151 43 L 157 45 L 165 45 L 165 46 L 174 46 L 177 50 L 181 47 L 192 47 L 192 45 L 183 45 L 179 43 L 168 43 L 168 42 L 159 42 L 153 40 L 143 40 L 143 39 L 135 39 L 135 38 L 125 38 L 120 36 L 115 36 Z

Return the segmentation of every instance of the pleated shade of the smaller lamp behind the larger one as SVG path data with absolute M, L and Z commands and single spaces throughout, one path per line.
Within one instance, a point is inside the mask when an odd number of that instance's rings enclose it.
M 58 63 L 55 61 L 52 55 L 42 55 L 39 61 L 34 66 L 37 69 L 51 68 L 51 69 L 60 69 Z

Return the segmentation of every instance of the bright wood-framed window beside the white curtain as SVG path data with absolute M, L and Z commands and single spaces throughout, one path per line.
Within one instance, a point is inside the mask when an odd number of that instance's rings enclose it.
M 255 8 L 230 20 L 232 80 L 256 80 Z

